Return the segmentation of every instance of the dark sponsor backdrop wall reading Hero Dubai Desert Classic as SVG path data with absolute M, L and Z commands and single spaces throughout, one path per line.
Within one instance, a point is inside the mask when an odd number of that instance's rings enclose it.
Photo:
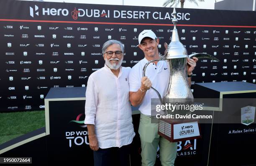
M 125 45 L 123 66 L 143 59 L 138 34 L 152 29 L 159 53 L 172 34 L 172 8 L 32 1 L 0 2 L 0 111 L 44 110 L 51 87 L 87 86 L 104 65 L 102 44 Z M 256 13 L 177 8 L 179 38 L 200 60 L 194 82 L 255 83 Z

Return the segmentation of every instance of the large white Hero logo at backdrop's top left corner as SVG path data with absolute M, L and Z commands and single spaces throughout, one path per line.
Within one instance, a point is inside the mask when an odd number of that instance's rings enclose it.
M 35 8 L 32 8 L 31 6 L 29 7 L 29 11 L 30 11 L 30 16 L 34 17 L 34 13 L 36 15 L 39 15 L 38 12 L 38 6 L 35 5 Z M 67 16 L 69 14 L 69 11 L 67 9 L 55 9 L 55 8 L 42 8 L 42 14 L 43 15 L 64 15 Z

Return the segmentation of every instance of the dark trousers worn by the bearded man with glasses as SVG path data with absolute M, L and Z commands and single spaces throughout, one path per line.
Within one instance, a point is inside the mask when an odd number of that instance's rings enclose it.
M 130 166 L 130 145 L 93 151 L 94 166 Z

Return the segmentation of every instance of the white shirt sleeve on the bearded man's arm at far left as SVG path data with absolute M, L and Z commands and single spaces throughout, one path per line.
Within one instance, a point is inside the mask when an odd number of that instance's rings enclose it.
M 97 87 L 90 76 L 87 82 L 87 88 L 85 93 L 85 119 L 84 124 L 95 125 L 96 107 L 98 102 Z

